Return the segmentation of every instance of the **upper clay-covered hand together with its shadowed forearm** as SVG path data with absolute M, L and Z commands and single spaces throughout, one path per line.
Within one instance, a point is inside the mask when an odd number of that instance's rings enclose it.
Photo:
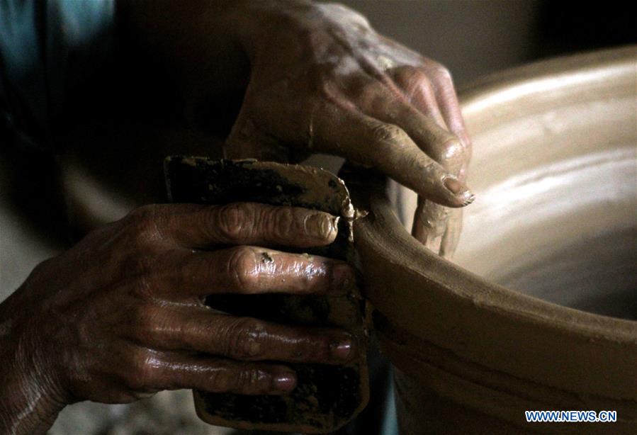
M 223 95 L 220 88 L 247 86 L 227 157 L 325 152 L 376 166 L 419 193 L 414 235 L 451 255 L 461 213 L 447 207 L 473 196 L 464 183 L 470 141 L 444 67 L 336 4 L 187 4 L 181 11 L 164 4 L 159 18 L 137 11 L 135 22 L 154 24 L 145 38 L 176 64 L 193 108 Z

